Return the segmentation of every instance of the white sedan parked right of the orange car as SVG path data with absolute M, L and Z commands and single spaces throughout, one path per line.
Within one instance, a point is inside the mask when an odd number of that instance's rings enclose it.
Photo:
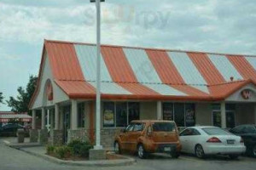
M 182 152 L 199 158 L 220 154 L 235 159 L 246 151 L 241 137 L 220 127 L 188 127 L 179 136 Z

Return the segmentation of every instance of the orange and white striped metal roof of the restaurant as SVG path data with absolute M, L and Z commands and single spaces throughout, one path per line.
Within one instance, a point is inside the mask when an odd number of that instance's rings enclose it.
M 45 40 L 44 52 L 70 98 L 96 97 L 95 44 Z M 111 45 L 101 52 L 103 99 L 218 100 L 256 82 L 255 56 Z

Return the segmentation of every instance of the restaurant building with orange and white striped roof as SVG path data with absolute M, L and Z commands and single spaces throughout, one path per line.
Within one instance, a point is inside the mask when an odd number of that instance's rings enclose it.
M 256 56 L 102 45 L 101 57 L 105 147 L 136 119 L 179 127 L 256 123 Z M 95 104 L 96 45 L 45 40 L 30 103 L 33 118 L 37 111 L 44 118 L 32 136 L 43 139 L 49 111 L 49 142 L 94 141 Z

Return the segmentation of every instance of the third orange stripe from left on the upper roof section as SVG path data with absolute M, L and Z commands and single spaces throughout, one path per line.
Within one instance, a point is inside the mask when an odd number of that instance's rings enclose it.
M 163 83 L 181 84 L 185 83 L 177 68 L 172 63 L 166 51 L 146 50 L 148 58 L 151 60 L 156 72 Z

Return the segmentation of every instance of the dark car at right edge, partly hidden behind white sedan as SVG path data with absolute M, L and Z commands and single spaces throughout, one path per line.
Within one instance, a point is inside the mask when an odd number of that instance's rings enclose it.
M 244 141 L 247 146 L 247 155 L 256 157 L 256 125 L 240 125 L 230 129 Z

